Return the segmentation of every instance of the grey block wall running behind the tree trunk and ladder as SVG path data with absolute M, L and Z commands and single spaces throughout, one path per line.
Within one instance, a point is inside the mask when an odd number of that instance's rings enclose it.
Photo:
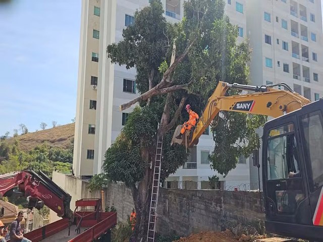
M 110 185 L 107 206 L 116 207 L 118 221 L 125 221 L 134 207 L 131 191 L 122 183 Z M 256 192 L 159 189 L 156 228 L 163 234 L 188 235 L 221 230 L 227 221 L 248 224 L 263 219 Z

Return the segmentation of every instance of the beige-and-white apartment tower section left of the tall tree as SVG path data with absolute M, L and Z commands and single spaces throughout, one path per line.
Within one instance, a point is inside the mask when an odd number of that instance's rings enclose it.
M 162 0 L 165 17 L 183 17 L 183 0 Z M 115 141 L 133 107 L 119 106 L 138 94 L 135 69 L 111 64 L 106 46 L 122 40 L 122 30 L 134 21 L 134 12 L 149 0 L 82 0 L 79 74 L 73 171 L 89 178 L 101 172 L 104 154 Z

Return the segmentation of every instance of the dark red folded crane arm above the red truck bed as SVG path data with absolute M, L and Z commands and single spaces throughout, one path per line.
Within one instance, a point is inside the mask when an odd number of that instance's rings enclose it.
M 27 197 L 30 209 L 46 205 L 59 217 L 73 219 L 71 196 L 41 171 L 23 170 L 0 175 L 0 199 L 14 194 Z

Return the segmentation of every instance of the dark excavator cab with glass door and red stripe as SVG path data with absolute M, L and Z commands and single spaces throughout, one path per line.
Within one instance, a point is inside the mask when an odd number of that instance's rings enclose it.
M 266 230 L 323 241 L 323 99 L 267 122 L 262 142 Z

